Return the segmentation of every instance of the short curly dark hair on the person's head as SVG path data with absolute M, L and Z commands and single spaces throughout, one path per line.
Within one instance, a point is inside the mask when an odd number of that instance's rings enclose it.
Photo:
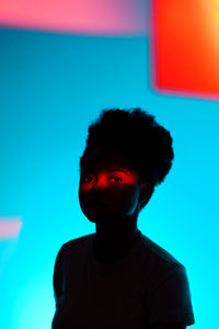
M 140 177 L 155 186 L 163 182 L 174 158 L 170 132 L 140 107 L 102 110 L 89 126 L 80 170 L 91 150 L 110 147 L 127 155 Z

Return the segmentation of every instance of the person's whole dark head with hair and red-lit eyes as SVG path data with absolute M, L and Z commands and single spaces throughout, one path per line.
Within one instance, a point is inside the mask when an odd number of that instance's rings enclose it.
M 104 110 L 89 126 L 80 158 L 79 200 L 85 216 L 138 215 L 169 173 L 170 133 L 140 109 Z

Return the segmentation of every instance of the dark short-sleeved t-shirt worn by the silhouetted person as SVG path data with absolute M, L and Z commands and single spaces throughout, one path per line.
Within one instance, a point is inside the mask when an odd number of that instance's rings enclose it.
M 147 329 L 195 324 L 185 266 L 138 230 L 122 259 L 101 263 L 95 234 L 65 243 L 56 258 L 53 329 Z

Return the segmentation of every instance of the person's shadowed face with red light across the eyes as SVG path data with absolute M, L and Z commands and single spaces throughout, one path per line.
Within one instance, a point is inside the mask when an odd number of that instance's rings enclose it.
M 106 148 L 95 148 L 89 154 L 81 170 L 79 202 L 90 222 L 136 216 L 140 190 L 140 177 L 128 157 Z

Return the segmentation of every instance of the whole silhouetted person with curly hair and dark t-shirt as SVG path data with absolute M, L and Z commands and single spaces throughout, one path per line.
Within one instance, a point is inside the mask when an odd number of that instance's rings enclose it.
M 170 133 L 140 109 L 105 110 L 90 125 L 79 201 L 96 232 L 58 252 L 53 329 L 184 329 L 195 322 L 185 266 L 137 228 L 173 157 Z

